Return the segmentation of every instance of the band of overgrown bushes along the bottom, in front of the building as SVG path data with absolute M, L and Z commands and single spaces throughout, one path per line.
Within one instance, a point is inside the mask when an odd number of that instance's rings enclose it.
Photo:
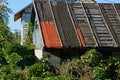
M 14 47 L 17 46 L 17 50 Z M 25 50 L 22 46 L 14 45 L 10 54 L 0 56 L 1 80 L 119 80 L 120 60 L 109 57 L 103 59 L 95 49 L 87 51 L 80 59 L 74 58 L 66 64 L 55 67 L 48 63 L 48 59 L 40 61 L 34 55 L 24 54 L 19 50 Z M 13 52 L 13 53 L 12 53 Z M 18 53 L 17 53 L 18 52 Z M 25 52 L 25 53 L 26 53 Z M 3 62 L 5 61 L 5 62 Z

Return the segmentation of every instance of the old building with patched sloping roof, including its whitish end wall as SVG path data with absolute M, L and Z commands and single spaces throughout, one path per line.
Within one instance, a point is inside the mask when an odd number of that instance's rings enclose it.
M 120 57 L 120 4 L 33 1 L 31 21 L 38 58 L 59 65 L 95 48 Z

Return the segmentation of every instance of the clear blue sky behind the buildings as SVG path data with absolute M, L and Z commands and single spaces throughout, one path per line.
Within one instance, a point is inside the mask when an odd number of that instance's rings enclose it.
M 120 0 L 96 0 L 99 3 L 120 3 Z M 8 7 L 13 10 L 13 14 L 10 14 L 9 24 L 11 31 L 14 32 L 15 29 L 20 30 L 20 19 L 14 22 L 14 14 L 20 11 L 22 8 L 30 4 L 32 0 L 8 0 Z

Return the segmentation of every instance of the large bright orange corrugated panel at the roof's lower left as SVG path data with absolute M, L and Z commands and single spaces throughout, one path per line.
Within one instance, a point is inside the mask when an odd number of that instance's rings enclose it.
M 47 48 L 62 48 L 53 22 L 41 21 L 41 29 Z

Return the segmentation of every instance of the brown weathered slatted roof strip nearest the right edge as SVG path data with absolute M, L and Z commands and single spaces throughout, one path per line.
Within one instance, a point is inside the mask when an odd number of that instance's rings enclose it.
M 118 8 L 115 8 L 114 4 L 100 4 L 100 8 L 117 45 L 120 46 L 120 16 Z

